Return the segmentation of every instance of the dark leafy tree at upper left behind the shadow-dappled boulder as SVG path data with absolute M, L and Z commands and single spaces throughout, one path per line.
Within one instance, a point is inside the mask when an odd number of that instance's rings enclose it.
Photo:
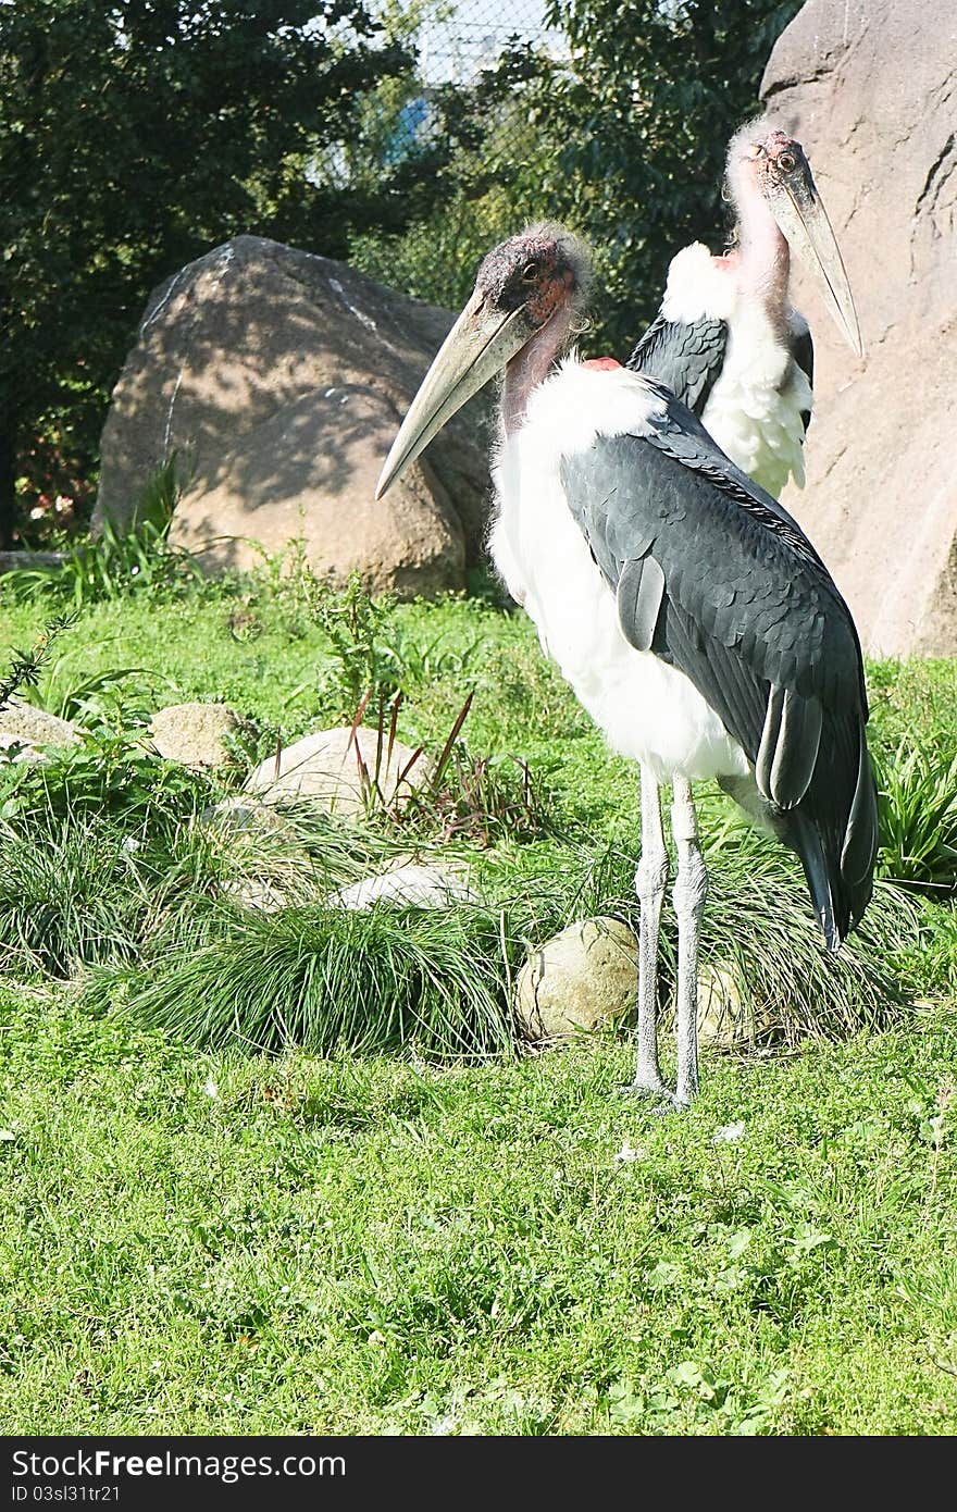
M 366 0 L 0 5 L 0 546 L 18 472 L 89 467 L 162 277 L 240 231 L 337 256 L 402 224 L 401 174 L 308 169 L 408 64 Z

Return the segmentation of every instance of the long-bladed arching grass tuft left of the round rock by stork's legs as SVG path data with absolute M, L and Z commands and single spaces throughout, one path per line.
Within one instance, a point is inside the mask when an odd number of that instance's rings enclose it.
M 163 1033 L 257 1051 L 413 1046 L 446 1060 L 516 1043 L 506 989 L 520 942 L 494 909 L 219 906 L 209 922 L 204 943 L 184 950 L 171 928 L 144 969 L 94 980 L 92 1001 L 106 989 Z

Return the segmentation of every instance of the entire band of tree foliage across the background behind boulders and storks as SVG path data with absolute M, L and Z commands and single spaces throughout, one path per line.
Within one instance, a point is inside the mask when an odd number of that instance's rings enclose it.
M 561 218 L 627 349 L 674 251 L 721 240 L 727 139 L 798 5 L 547 0 L 558 48 L 426 88 L 399 39 L 429 0 L 0 0 L 0 547 L 18 475 L 89 490 L 150 289 L 240 231 L 458 304 L 493 242 Z

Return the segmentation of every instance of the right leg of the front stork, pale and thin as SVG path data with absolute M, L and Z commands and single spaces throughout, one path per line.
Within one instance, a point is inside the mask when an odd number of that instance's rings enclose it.
M 671 833 L 677 847 L 674 912 L 677 915 L 677 1107 L 698 1090 L 698 925 L 705 912 L 708 872 L 698 845 L 698 821 L 691 783 L 674 779 Z

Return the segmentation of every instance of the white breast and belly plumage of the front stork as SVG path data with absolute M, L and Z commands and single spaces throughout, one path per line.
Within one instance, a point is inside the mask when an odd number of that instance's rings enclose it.
M 745 776 L 750 765 L 683 673 L 638 652 L 618 624 L 614 591 L 591 558 L 561 485 L 562 457 L 602 435 L 641 434 L 659 404 L 626 369 L 596 370 L 568 358 L 529 402 L 494 467 L 496 567 L 538 627 L 543 650 L 623 756 L 659 780 Z

